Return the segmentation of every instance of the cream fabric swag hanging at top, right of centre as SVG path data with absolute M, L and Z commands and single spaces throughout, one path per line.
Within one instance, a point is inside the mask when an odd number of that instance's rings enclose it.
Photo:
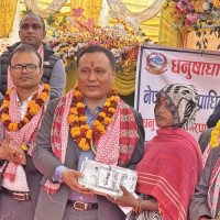
M 117 18 L 129 22 L 133 26 L 136 26 L 141 22 L 147 21 L 156 15 L 161 10 L 163 1 L 164 0 L 154 0 L 153 3 L 144 11 L 132 12 L 124 6 L 122 0 L 107 0 L 109 7 L 112 10 L 112 13 L 116 14 Z

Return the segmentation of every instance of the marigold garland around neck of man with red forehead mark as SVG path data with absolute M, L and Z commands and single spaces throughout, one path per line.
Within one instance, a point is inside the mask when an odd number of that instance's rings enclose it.
M 107 100 L 92 124 L 92 129 L 87 124 L 85 105 L 78 87 L 73 90 L 73 103 L 69 109 L 68 122 L 72 127 L 70 133 L 78 146 L 84 151 L 89 151 L 92 139 L 103 135 L 108 125 L 112 122 L 113 114 L 117 110 L 118 95 L 112 87 Z

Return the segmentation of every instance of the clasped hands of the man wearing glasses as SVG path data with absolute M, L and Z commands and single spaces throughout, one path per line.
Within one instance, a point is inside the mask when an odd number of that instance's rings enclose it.
M 0 146 L 0 160 L 15 162 L 25 165 L 26 156 L 24 151 L 18 144 L 10 143 L 10 135 L 8 135 Z

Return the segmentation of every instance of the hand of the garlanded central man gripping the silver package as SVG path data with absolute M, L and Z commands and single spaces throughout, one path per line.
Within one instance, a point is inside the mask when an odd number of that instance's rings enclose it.
M 73 190 L 76 190 L 80 194 L 94 195 L 94 193 L 90 189 L 85 188 L 78 183 L 77 177 L 82 176 L 84 174 L 76 172 L 75 169 L 66 169 L 63 173 L 63 182 Z

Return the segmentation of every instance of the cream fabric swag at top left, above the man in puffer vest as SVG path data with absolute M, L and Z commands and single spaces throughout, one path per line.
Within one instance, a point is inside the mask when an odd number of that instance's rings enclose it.
M 31 9 L 33 13 L 41 15 L 42 18 L 47 18 L 55 11 L 61 10 L 67 0 L 53 0 L 46 9 L 41 9 L 36 0 L 24 0 L 26 8 Z

